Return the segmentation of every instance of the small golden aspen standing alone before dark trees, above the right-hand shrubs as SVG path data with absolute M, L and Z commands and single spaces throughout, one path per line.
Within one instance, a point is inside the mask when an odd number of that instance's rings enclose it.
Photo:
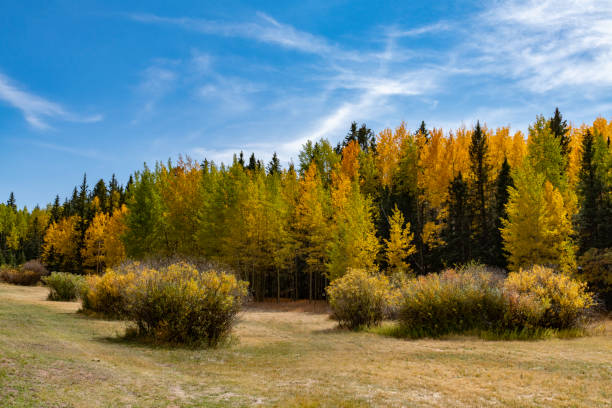
M 412 243 L 413 234 L 410 232 L 410 223 L 404 222 L 404 215 L 397 208 L 393 208 L 389 221 L 389 239 L 385 239 L 385 258 L 388 270 L 392 275 L 411 273 L 406 259 L 416 252 Z

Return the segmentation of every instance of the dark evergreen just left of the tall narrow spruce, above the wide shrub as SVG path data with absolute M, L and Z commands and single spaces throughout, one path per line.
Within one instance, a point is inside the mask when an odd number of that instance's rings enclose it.
M 445 261 L 447 264 L 464 264 L 472 257 L 471 216 L 468 184 L 461 172 L 448 189 L 447 219 L 443 230 Z

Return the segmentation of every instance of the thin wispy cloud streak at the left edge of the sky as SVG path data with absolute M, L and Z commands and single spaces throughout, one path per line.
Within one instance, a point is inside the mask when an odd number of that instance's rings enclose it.
M 33 127 L 48 129 L 49 119 L 61 119 L 69 122 L 91 123 L 102 120 L 102 115 L 82 116 L 67 111 L 60 104 L 48 101 L 38 95 L 27 92 L 6 75 L 0 73 L 0 100 L 19 109 L 24 119 Z

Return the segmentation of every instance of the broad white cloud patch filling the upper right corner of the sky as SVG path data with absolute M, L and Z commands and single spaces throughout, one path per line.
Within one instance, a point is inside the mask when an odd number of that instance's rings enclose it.
M 474 63 L 531 92 L 612 86 L 612 3 L 528 0 L 494 3 L 469 37 Z

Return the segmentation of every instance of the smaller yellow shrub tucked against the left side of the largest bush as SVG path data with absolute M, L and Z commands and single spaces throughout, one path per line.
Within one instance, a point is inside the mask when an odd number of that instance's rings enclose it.
M 111 318 L 126 317 L 126 290 L 135 279 L 136 273 L 131 269 L 120 272 L 107 269 L 102 276 L 87 276 L 80 296 L 83 311 Z

